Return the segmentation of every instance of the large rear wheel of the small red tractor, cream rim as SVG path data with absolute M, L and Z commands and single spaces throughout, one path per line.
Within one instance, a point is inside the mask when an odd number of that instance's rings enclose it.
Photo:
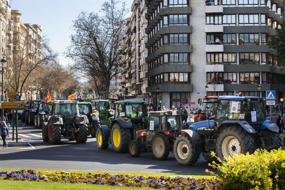
M 170 152 L 170 142 L 163 133 L 154 135 L 151 142 L 151 152 L 157 160 L 165 160 Z

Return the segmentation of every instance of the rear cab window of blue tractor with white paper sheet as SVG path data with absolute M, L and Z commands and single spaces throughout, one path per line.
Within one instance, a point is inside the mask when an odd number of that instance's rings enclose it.
M 262 123 L 266 119 L 263 102 L 260 101 L 244 102 L 243 114 L 245 114 L 245 121 L 249 123 Z

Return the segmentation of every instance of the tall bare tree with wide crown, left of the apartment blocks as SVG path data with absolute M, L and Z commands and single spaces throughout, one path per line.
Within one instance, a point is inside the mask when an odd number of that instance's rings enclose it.
M 125 64 L 122 54 L 127 47 L 122 40 L 126 37 L 126 13 L 125 2 L 115 0 L 103 3 L 101 15 L 81 12 L 73 21 L 75 34 L 70 36 L 71 45 L 65 52 L 76 63 L 74 66 L 95 84 L 97 92 L 100 89 L 97 84 L 104 85 L 106 97 L 111 79 Z

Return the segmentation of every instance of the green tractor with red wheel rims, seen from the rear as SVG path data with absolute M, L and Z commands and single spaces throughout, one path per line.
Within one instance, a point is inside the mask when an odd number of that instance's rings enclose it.
M 54 100 L 47 122 L 42 128 L 42 140 L 58 144 L 61 135 L 70 141 L 84 143 L 88 136 L 88 118 L 81 115 L 76 100 Z

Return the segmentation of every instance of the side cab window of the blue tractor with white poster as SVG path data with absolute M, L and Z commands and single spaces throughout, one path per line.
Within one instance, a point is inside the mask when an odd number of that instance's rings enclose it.
M 215 115 L 216 121 L 237 120 L 241 113 L 241 101 L 221 100 Z

